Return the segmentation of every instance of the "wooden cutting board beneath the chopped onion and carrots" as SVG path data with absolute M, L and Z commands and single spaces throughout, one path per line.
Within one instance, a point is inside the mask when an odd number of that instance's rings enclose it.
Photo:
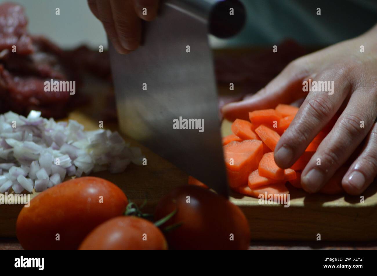
M 77 111 L 69 115 L 85 126 L 86 130 L 98 129 L 98 123 Z M 116 130 L 116 124 L 104 124 Z M 230 132 L 230 123 L 224 121 L 222 133 Z M 130 164 L 126 171 L 110 174 L 93 173 L 118 185 L 127 197 L 141 204 L 147 200 L 145 210 L 153 212 L 158 200 L 174 187 L 187 183 L 188 175 L 146 147 L 125 137 L 131 146 L 141 147 L 147 157 L 146 166 Z M 258 199 L 231 194 L 230 200 L 238 205 L 247 217 L 253 240 L 321 240 L 359 241 L 377 239 L 377 185 L 371 185 L 359 197 L 308 195 L 290 187 L 290 207 L 259 205 Z M 37 193 L 33 193 L 34 197 Z M 15 222 L 21 205 L 0 205 L 0 237 L 15 237 Z

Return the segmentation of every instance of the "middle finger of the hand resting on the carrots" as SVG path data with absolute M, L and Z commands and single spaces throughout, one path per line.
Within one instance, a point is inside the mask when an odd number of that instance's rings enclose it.
M 319 191 L 368 135 L 377 117 L 377 103 L 368 96 L 360 90 L 352 93 L 346 109 L 302 171 L 304 190 Z

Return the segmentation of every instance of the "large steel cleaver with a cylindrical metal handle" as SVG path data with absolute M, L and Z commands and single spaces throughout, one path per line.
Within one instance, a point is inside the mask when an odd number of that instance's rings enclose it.
M 225 197 L 208 32 L 230 37 L 244 21 L 237 0 L 165 1 L 138 49 L 120 55 L 109 42 L 121 131 Z

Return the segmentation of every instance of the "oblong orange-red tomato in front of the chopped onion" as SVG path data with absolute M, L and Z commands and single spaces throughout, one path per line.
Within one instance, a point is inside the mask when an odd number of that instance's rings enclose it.
M 77 249 L 96 226 L 126 210 L 126 195 L 98 177 L 79 177 L 43 191 L 17 218 L 24 249 Z

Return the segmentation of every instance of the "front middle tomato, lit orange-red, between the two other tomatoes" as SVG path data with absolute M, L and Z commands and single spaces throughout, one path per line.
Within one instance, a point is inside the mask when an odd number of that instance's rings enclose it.
M 80 250 L 166 250 L 164 235 L 152 222 L 138 217 L 116 217 L 87 235 Z

